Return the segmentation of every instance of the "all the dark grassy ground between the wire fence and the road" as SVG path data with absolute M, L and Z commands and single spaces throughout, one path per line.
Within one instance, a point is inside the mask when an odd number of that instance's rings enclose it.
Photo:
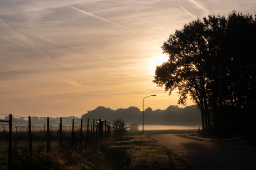
M 154 142 L 139 132 L 114 141 L 105 139 L 91 147 L 69 147 L 46 153 L 44 146 L 29 156 L 26 147 L 13 145 L 13 167 L 19 169 L 193 169 L 188 163 L 161 147 L 147 145 Z M 0 158 L 0 169 L 7 169 L 7 155 Z

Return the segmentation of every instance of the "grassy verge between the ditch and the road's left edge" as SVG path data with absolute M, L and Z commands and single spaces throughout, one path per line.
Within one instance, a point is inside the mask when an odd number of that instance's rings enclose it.
M 193 169 L 173 152 L 145 145 L 154 142 L 149 134 L 126 136 L 110 147 L 107 155 L 114 169 Z

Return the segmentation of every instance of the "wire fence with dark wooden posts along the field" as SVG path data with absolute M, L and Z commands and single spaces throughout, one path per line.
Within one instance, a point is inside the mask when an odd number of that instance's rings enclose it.
M 111 134 L 110 122 L 101 119 L 15 117 L 18 116 L 10 114 L 9 120 L 0 120 L 0 151 L 8 150 L 8 164 L 12 161 L 13 145 L 28 148 L 32 155 L 43 150 L 96 145 Z

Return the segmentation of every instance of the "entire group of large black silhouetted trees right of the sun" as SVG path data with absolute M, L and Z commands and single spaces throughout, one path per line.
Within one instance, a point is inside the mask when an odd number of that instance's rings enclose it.
M 190 96 L 203 129 L 238 120 L 249 125 L 256 104 L 255 30 L 256 16 L 235 11 L 185 24 L 164 42 L 169 60 L 157 66 L 153 82 L 169 94 L 178 90 L 179 104 Z

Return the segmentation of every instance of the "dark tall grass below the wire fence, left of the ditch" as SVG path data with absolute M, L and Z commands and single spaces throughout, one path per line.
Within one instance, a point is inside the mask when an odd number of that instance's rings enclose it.
M 34 150 L 29 156 L 28 147 L 19 146 L 14 143 L 12 147 L 12 169 L 110 169 L 109 162 L 106 161 L 101 150 L 112 145 L 113 139 L 106 138 L 100 143 L 93 143 L 90 146 L 77 146 L 70 148 L 70 145 L 63 148 L 56 147 L 50 152 L 46 152 L 46 146 L 42 145 Z M 8 152 L 4 151 L 0 157 L 0 169 L 8 169 Z

